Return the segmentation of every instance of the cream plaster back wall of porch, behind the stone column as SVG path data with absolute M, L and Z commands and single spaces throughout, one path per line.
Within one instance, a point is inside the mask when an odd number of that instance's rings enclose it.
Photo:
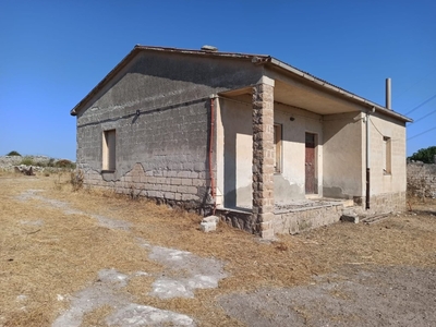
M 252 104 L 249 96 L 219 99 L 217 112 L 217 186 L 228 208 L 252 206 Z M 290 117 L 294 120 L 291 121 Z M 275 202 L 305 197 L 305 133 L 317 135 L 318 190 L 323 181 L 320 116 L 275 104 L 275 123 L 282 125 L 282 171 L 274 175 Z M 322 192 L 319 192 L 322 195 Z

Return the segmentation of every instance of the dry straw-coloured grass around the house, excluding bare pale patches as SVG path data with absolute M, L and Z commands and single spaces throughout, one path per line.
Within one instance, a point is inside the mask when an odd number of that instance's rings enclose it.
M 203 326 L 241 325 L 216 305 L 216 298 L 223 293 L 307 283 L 313 275 L 347 265 L 436 266 L 434 201 L 413 203 L 416 216 L 393 216 L 371 226 L 337 223 L 267 243 L 225 225 L 205 234 L 198 230 L 201 217 L 144 199 L 72 192 L 69 179 L 68 173 L 0 175 L 0 326 L 50 325 L 68 307 L 58 294 L 80 291 L 100 269 L 162 271 L 148 259 L 137 238 L 226 262 L 229 277 L 218 289 L 196 291 L 194 299 L 152 298 L 147 295 L 150 277 L 135 277 L 126 287 L 135 303 L 190 315 Z M 132 228 L 112 230 L 88 215 L 66 215 L 38 198 L 20 201 L 20 194 L 29 189 L 44 190 L 40 195 L 68 202 L 81 211 L 130 221 Z M 110 312 L 107 306 L 94 311 L 85 316 L 84 326 L 105 326 Z

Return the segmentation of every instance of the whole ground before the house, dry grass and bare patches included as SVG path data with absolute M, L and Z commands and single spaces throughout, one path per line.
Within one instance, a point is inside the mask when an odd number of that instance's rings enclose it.
M 0 172 L 0 326 L 436 326 L 436 201 L 274 242 Z

